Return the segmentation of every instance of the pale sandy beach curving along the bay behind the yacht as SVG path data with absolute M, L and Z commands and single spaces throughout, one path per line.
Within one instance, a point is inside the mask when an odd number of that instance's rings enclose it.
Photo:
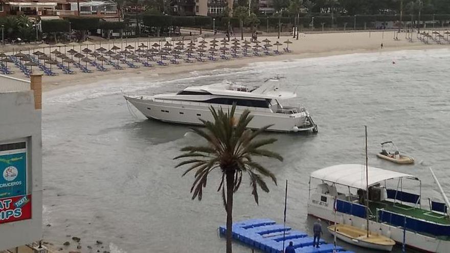
M 233 68 L 241 67 L 253 62 L 261 61 L 279 61 L 286 59 L 295 58 L 306 58 L 306 57 L 321 57 L 330 55 L 340 55 L 340 54 L 353 54 L 353 53 L 367 53 L 367 52 L 382 52 L 382 51 L 397 51 L 397 50 L 423 50 L 423 49 L 435 49 L 435 48 L 445 48 L 450 45 L 446 42 L 444 44 L 424 44 L 421 41 L 415 39 L 410 42 L 407 39 L 402 38 L 404 34 L 399 34 L 400 40 L 393 39 L 394 32 L 392 31 L 379 31 L 379 32 L 347 32 L 347 33 L 318 33 L 318 34 L 302 34 L 299 40 L 292 39 L 289 37 L 267 37 L 271 40 L 271 43 L 275 41 L 280 41 L 281 43 L 287 39 L 292 41 L 289 44 L 289 49 L 292 50 L 291 53 L 284 53 L 282 55 L 276 56 L 262 56 L 262 57 L 242 57 L 242 58 L 232 58 L 231 60 L 218 60 L 218 61 L 206 61 L 206 62 L 195 62 L 195 63 L 182 63 L 182 64 L 169 64 L 168 66 L 154 66 L 154 67 L 140 67 L 140 68 L 128 68 L 125 67 L 124 70 L 112 70 L 109 72 L 94 71 L 93 73 L 81 73 L 77 71 L 76 75 L 66 75 L 60 73 L 58 76 L 43 76 L 44 91 L 52 90 L 59 87 L 66 87 L 71 85 L 89 85 L 98 82 L 107 82 L 110 79 L 118 78 L 129 78 L 135 75 L 139 75 L 141 78 L 149 79 L 171 79 L 174 75 L 177 77 L 188 75 L 192 71 L 201 70 L 212 70 L 216 68 Z M 266 37 L 258 37 L 258 40 L 262 41 Z M 246 38 L 250 40 L 249 38 Z M 206 41 L 211 41 L 212 38 L 207 38 Z M 220 40 L 220 39 L 219 39 Z M 125 47 L 125 40 L 115 41 L 115 45 Z M 147 41 L 142 41 L 146 43 Z M 188 41 L 186 41 L 188 42 Z M 380 45 L 383 43 L 384 48 L 381 49 Z M 134 42 L 128 44 L 134 44 Z M 139 43 L 138 43 L 139 44 Z M 280 46 L 280 51 L 285 47 L 286 44 Z M 94 50 L 94 47 L 99 48 L 99 45 L 87 45 L 83 48 L 88 47 Z M 113 47 L 110 45 L 102 43 L 101 47 L 108 48 Z M 72 47 L 67 47 L 66 50 Z M 56 49 L 53 47 L 51 50 Z M 75 50 L 79 50 L 80 47 L 75 46 Z M 272 47 L 272 50 L 276 47 Z M 46 48 L 44 53 L 49 54 L 50 49 Z M 49 51 L 49 52 L 47 52 Z M 62 50 L 61 50 L 62 51 Z M 22 51 L 26 53 L 26 51 Z M 54 66 L 56 68 L 56 66 Z M 18 71 L 17 68 L 12 68 L 15 74 L 12 76 L 18 78 L 26 78 L 22 73 Z M 39 73 L 37 67 L 33 68 L 34 73 Z

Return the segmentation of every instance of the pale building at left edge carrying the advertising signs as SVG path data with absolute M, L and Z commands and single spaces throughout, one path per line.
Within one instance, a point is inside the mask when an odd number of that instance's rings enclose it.
M 0 119 L 1 251 L 42 239 L 40 75 L 0 75 Z

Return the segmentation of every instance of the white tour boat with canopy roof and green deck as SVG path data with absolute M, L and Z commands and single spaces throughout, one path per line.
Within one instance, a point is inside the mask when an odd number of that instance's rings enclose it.
M 363 231 L 369 227 L 370 233 L 422 251 L 449 252 L 450 202 L 437 180 L 445 203 L 422 199 L 421 181 L 413 175 L 375 167 L 368 167 L 367 175 L 366 181 L 366 166 L 359 164 L 335 165 L 312 172 L 308 215 Z M 418 182 L 418 194 L 403 191 L 406 179 Z

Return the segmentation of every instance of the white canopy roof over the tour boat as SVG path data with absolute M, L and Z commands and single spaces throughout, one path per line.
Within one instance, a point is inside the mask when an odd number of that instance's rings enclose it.
M 417 177 L 400 172 L 368 167 L 369 187 L 389 179 Z M 341 164 L 326 167 L 311 173 L 310 177 L 349 186 L 357 189 L 366 189 L 366 166 L 361 164 Z

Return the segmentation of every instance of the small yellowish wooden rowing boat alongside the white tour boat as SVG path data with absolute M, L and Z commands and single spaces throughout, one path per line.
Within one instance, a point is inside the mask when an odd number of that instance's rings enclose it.
M 364 248 L 392 251 L 395 241 L 383 235 L 369 232 L 367 237 L 366 229 L 357 228 L 346 224 L 334 224 L 328 227 L 328 231 L 336 238 Z

